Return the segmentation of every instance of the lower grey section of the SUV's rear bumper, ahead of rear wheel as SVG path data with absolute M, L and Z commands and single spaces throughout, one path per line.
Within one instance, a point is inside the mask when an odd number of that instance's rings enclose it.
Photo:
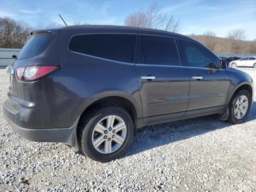
M 14 122 L 11 122 L 6 116 L 8 110 L 5 107 L 3 107 L 3 109 L 4 118 L 6 119 L 8 124 L 18 135 L 25 138 L 26 140 L 36 142 L 62 142 L 70 145 L 72 150 L 78 151 L 76 128 L 80 117 L 70 128 L 28 129 L 22 128 L 14 124 Z

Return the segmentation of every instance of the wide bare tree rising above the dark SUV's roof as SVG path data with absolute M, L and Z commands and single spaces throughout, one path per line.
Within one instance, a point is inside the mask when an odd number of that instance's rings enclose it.
M 176 19 L 174 15 L 169 16 L 168 13 L 163 12 L 158 3 L 153 3 L 148 10 L 139 10 L 127 16 L 124 25 L 178 32 L 181 21 L 179 18 Z

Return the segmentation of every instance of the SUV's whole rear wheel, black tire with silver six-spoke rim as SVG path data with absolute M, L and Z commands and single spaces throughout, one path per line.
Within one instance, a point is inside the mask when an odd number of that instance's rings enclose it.
M 120 106 L 96 106 L 78 124 L 80 151 L 92 160 L 108 162 L 128 148 L 133 136 L 132 118 Z

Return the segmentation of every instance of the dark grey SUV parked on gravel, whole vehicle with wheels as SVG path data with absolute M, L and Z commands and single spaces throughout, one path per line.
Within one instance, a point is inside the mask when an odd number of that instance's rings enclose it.
M 241 123 L 252 78 L 176 33 L 124 26 L 36 30 L 8 67 L 4 116 L 22 137 L 106 162 L 137 128 L 210 114 Z

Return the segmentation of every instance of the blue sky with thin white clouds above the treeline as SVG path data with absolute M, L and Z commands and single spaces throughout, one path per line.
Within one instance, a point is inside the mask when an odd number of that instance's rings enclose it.
M 10 16 L 32 26 L 37 23 L 68 25 L 74 22 L 123 25 L 129 14 L 158 2 L 165 12 L 180 18 L 181 34 L 202 34 L 213 30 L 225 37 L 228 30 L 246 29 L 249 40 L 256 38 L 256 0 L 0 0 L 0 16 Z

